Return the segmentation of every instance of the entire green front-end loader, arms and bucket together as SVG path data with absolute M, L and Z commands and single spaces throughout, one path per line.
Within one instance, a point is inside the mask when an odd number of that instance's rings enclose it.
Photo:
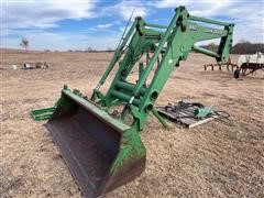
M 48 119 L 45 125 L 85 197 L 103 195 L 144 170 L 146 151 L 139 132 L 150 113 L 166 127 L 154 102 L 180 61 L 191 51 L 218 63 L 229 58 L 234 24 L 190 15 L 185 7 L 175 11 L 168 25 L 135 18 L 90 98 L 65 86 L 53 108 L 31 112 L 36 120 Z M 220 38 L 217 53 L 195 45 L 213 38 Z M 144 54 L 151 54 L 145 65 L 140 62 Z M 114 67 L 103 94 L 100 88 Z M 139 69 L 136 79 L 132 69 Z

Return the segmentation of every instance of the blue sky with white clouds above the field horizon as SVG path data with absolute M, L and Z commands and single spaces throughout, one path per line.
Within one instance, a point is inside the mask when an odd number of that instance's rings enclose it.
M 264 0 L 0 0 L 1 47 L 30 50 L 116 48 L 133 18 L 168 24 L 174 9 L 193 15 L 232 22 L 234 43 L 264 43 Z

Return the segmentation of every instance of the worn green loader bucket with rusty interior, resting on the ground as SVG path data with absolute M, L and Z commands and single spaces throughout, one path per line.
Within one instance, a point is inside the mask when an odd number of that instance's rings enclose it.
M 139 131 L 69 89 L 62 91 L 46 128 L 85 197 L 103 195 L 145 168 Z

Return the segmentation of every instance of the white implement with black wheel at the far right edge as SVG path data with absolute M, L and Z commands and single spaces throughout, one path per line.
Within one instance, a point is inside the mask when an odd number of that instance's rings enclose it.
M 240 55 L 238 66 L 233 74 L 234 78 L 239 78 L 241 73 L 242 76 L 248 76 L 256 70 L 264 70 L 264 54 L 257 52 L 252 55 Z

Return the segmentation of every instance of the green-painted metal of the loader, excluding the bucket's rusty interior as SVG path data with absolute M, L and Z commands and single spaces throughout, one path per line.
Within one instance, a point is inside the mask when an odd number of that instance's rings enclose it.
M 216 57 L 219 63 L 228 61 L 233 36 L 234 25 L 232 23 L 193 16 L 185 7 L 178 7 L 175 11 L 168 25 L 146 23 L 142 18 L 135 18 L 127 35 L 122 36 L 113 58 L 94 89 L 91 98 L 87 99 L 80 92 L 72 91 L 66 87 L 62 91 L 58 105 L 52 109 L 55 111 L 54 116 L 38 117 L 53 120 L 56 118 L 57 111 L 75 113 L 81 107 L 99 119 L 102 125 L 114 129 L 121 135 L 118 154 L 107 172 L 106 178 L 108 179 L 102 185 L 105 189 L 99 190 L 99 194 L 120 186 L 118 178 L 122 178 L 124 183 L 129 182 L 132 176 L 124 179 L 120 175 L 128 174 L 132 164 L 145 162 L 145 147 L 139 132 L 143 130 L 150 112 L 153 112 L 166 127 L 165 121 L 156 112 L 154 103 L 174 68 L 179 66 L 180 61 L 187 59 L 191 51 Z M 202 25 L 216 24 L 222 29 L 207 28 L 196 22 L 202 22 Z M 218 52 L 195 45 L 197 42 L 212 38 L 220 38 Z M 148 52 L 152 53 L 150 61 L 146 64 L 140 63 L 138 66 L 138 62 Z M 131 81 L 130 74 L 136 66 L 139 67 L 138 79 Z M 118 67 L 116 76 L 107 92 L 103 94 L 100 88 L 114 67 Z M 121 105 L 122 110 L 120 116 L 113 118 L 109 112 L 117 105 Z M 42 112 L 44 113 L 45 110 L 34 111 L 32 114 L 37 116 Z M 128 117 L 132 117 L 132 122 L 127 121 Z M 87 120 L 87 124 L 89 124 L 89 120 Z M 139 170 L 136 173 L 140 174 Z M 114 185 L 114 183 L 119 185 Z

